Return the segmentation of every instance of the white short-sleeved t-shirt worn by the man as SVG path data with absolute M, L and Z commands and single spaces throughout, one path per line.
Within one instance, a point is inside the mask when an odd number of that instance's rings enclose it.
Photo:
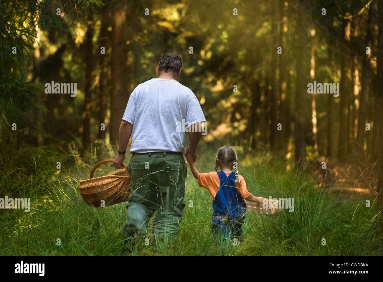
M 129 97 L 122 118 L 133 125 L 130 152 L 185 153 L 185 128 L 205 122 L 200 103 L 175 79 L 152 78 Z M 180 124 L 186 124 L 185 128 Z

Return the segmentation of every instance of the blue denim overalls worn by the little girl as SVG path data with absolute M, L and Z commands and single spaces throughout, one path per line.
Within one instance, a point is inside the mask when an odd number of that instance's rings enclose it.
M 228 176 L 224 172 L 217 172 L 217 174 L 219 189 L 213 200 L 211 233 L 214 237 L 240 239 L 246 203 L 237 189 L 235 173 L 231 172 Z

